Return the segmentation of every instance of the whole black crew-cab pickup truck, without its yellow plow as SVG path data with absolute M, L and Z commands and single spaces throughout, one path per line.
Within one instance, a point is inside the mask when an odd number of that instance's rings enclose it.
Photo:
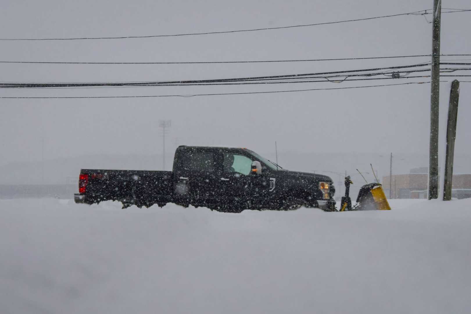
M 82 169 L 76 203 L 119 200 L 124 207 L 175 203 L 224 212 L 334 210 L 330 177 L 288 171 L 250 149 L 179 146 L 173 171 Z

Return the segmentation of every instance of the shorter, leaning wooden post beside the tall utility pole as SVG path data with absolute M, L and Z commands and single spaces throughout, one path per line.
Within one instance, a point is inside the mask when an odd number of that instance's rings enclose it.
M 458 118 L 458 99 L 460 97 L 460 82 L 451 83 L 450 103 L 448 105 L 447 122 L 447 152 L 445 157 L 445 184 L 443 200 L 451 200 L 451 183 L 453 179 L 453 157 L 455 155 L 456 120 Z

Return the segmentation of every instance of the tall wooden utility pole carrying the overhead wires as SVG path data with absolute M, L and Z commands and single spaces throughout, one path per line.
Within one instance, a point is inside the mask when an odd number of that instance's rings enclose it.
M 439 96 L 440 96 L 441 0 L 433 0 L 432 74 L 430 93 L 429 199 L 439 190 Z

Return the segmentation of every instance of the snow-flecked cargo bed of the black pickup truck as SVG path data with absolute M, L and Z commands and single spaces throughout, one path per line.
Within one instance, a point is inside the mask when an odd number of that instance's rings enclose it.
M 80 193 L 87 204 L 118 200 L 151 206 L 166 204 L 172 198 L 171 171 L 81 169 L 80 174 L 87 178 L 85 191 Z

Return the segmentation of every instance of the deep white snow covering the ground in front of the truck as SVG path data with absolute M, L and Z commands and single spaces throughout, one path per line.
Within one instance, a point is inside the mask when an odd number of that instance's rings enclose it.
M 470 313 L 471 199 L 390 205 L 0 200 L 0 313 Z

